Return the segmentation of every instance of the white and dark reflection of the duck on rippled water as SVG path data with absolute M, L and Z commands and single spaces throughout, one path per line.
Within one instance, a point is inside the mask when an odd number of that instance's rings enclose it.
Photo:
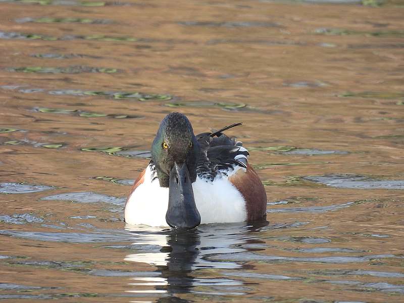
M 244 244 L 263 243 L 259 240 L 258 233 L 260 227 L 267 224 L 268 222 L 260 222 L 254 226 L 242 223 L 205 225 L 186 232 L 128 227 L 127 229 L 137 238 L 133 245 L 138 252 L 127 255 L 125 261 L 156 266 L 156 272 L 160 274 L 132 278 L 134 281 L 130 285 L 134 289 L 128 292 L 143 293 L 145 296 L 160 293 L 163 296 L 170 295 L 171 298 L 175 294 L 187 292 L 244 294 L 242 282 L 220 276 L 197 277 L 197 270 L 241 268 L 234 262 L 214 262 L 207 260 L 206 257 L 251 250 L 243 247 Z M 142 287 L 144 289 L 140 289 L 140 286 L 144 286 Z M 154 289 L 150 289 L 150 286 Z M 161 299 L 164 301 L 163 297 Z

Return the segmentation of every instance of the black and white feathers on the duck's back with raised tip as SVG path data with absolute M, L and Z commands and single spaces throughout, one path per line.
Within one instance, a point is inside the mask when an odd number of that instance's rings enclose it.
M 239 125 L 242 123 L 234 123 L 218 131 L 196 135 L 201 148 L 196 169 L 200 177 L 213 180 L 218 173 L 226 174 L 226 171 L 233 169 L 234 166 L 247 167 L 248 151 L 242 147 L 241 142 L 222 133 Z

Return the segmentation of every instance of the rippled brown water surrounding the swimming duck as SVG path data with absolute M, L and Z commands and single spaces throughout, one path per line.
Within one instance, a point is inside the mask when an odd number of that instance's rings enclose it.
M 402 2 L 1 2 L 4 302 L 404 302 Z M 171 111 L 244 123 L 267 226 L 125 229 Z

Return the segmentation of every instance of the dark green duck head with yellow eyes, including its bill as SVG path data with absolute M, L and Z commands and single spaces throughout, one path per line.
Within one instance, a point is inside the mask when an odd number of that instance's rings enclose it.
M 169 187 L 166 221 L 177 229 L 200 224 L 192 183 L 196 180 L 199 144 L 185 115 L 171 113 L 160 124 L 151 146 L 151 158 L 161 187 Z

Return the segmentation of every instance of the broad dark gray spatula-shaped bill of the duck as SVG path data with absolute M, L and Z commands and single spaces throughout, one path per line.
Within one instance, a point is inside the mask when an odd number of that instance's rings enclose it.
M 166 221 L 172 228 L 192 229 L 200 224 L 192 183 L 186 164 L 174 164 L 170 171 L 170 190 Z

